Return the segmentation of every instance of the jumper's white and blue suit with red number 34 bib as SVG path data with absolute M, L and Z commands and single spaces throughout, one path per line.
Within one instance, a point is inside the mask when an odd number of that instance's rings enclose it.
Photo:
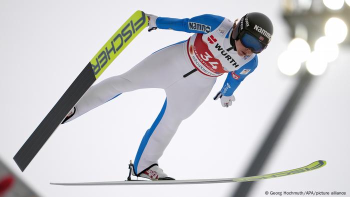
M 227 50 L 232 48 L 229 36 L 233 26 L 227 18 L 212 14 L 183 19 L 158 17 L 156 26 L 194 34 L 152 53 L 127 72 L 91 86 L 68 120 L 123 92 L 140 88 L 164 89 L 164 104 L 136 153 L 136 174 L 158 163 L 181 121 L 205 100 L 217 76 L 228 72 L 221 93 L 230 96 L 257 66 L 256 54 L 239 56 L 235 50 Z

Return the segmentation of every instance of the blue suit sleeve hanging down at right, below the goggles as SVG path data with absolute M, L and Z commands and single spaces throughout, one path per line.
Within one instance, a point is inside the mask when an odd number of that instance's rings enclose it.
M 249 75 L 257 66 L 257 55 L 249 62 L 235 71 L 228 72 L 226 80 L 221 88 L 221 94 L 224 96 L 231 96 L 234 90 L 238 87 L 240 82 Z

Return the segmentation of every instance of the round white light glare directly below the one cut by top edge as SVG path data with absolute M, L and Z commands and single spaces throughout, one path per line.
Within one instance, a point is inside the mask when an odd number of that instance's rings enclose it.
M 336 43 L 341 43 L 346 38 L 347 26 L 340 18 L 332 17 L 325 23 L 324 33 Z

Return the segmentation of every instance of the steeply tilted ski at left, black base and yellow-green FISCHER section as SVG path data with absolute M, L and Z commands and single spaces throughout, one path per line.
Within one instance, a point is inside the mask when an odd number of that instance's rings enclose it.
M 147 25 L 148 22 L 145 13 L 140 10 L 136 11 L 121 25 L 111 38 L 108 39 L 95 56 L 92 57 L 85 68 L 75 78 L 73 83 L 14 155 L 13 159 L 21 171 L 24 171 L 53 131 L 63 121 L 70 109 L 73 108 L 92 83 Z

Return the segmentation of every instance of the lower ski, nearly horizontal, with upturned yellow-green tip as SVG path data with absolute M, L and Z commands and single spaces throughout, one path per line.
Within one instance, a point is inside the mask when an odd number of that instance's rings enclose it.
M 188 180 L 124 180 L 124 181 L 105 181 L 105 182 L 72 182 L 72 183 L 54 183 L 56 185 L 149 185 L 149 184 L 207 184 L 207 183 L 223 183 L 223 182 L 247 182 L 255 180 L 263 180 L 269 178 L 276 178 L 286 175 L 297 174 L 301 172 L 311 171 L 323 167 L 326 164 L 325 160 L 318 160 L 309 165 L 280 171 L 275 173 L 247 176 L 239 178 L 213 178 L 213 179 L 188 179 Z

